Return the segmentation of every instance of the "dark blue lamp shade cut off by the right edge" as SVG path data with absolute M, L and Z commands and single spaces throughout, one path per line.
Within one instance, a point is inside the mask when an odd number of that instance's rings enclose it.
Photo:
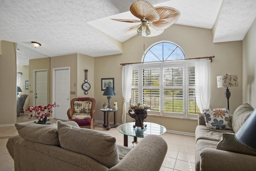
M 256 109 L 251 113 L 242 127 L 235 134 L 235 138 L 244 146 L 256 151 Z

